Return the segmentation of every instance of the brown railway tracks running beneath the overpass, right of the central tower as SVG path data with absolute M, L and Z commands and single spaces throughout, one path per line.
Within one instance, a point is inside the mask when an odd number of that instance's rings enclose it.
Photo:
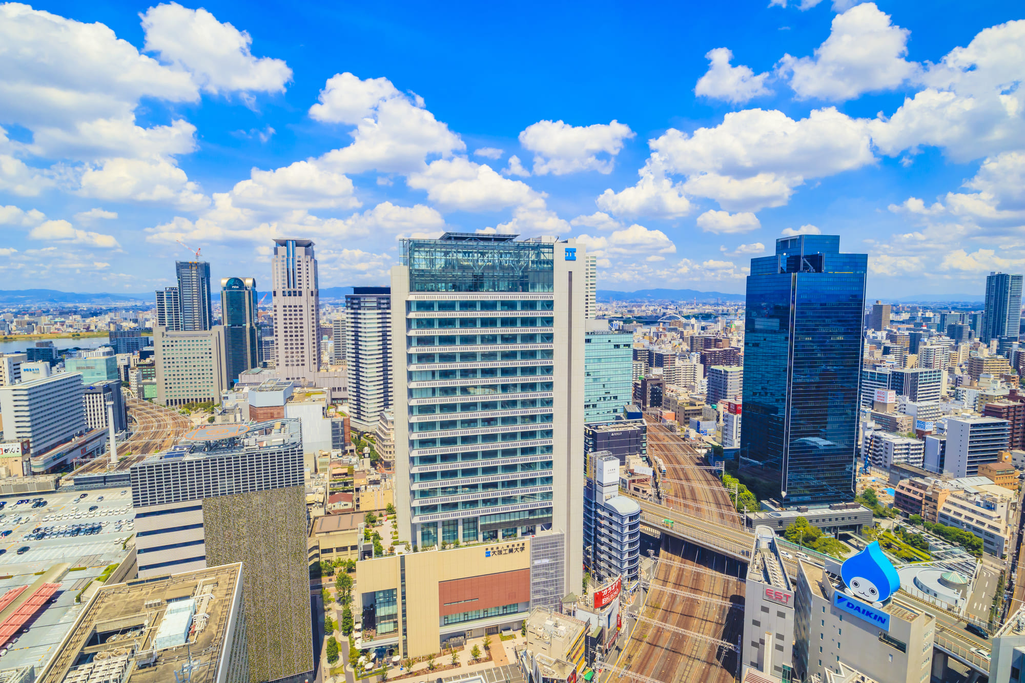
M 740 520 L 715 474 L 698 469 L 698 455 L 664 426 L 648 423 L 648 452 L 672 466 L 672 482 L 661 488 L 666 505 L 725 527 L 740 528 Z M 693 468 L 693 469 L 692 469 Z M 678 474 L 684 473 L 684 474 Z M 737 652 L 715 641 L 737 643 L 743 631 L 743 564 L 668 535 L 662 537 L 659 562 L 643 615 L 654 621 L 701 634 L 688 637 L 639 620 L 619 662 L 630 674 L 664 681 L 734 680 Z M 701 597 L 709 600 L 701 600 Z M 629 674 L 619 679 L 626 681 Z

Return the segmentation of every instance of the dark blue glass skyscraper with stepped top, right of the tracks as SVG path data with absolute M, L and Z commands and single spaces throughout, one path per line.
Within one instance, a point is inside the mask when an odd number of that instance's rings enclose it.
M 835 235 L 751 259 L 740 466 L 784 505 L 854 498 L 867 263 Z

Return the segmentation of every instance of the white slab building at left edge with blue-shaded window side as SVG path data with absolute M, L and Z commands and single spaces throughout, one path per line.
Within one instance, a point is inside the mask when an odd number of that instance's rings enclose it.
M 3 440 L 28 440 L 35 457 L 84 434 L 83 392 L 78 372 L 0 387 Z

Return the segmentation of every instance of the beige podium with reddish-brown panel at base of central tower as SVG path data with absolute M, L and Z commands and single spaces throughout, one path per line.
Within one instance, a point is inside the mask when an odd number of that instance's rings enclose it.
M 557 609 L 566 594 L 564 543 L 557 531 L 361 560 L 362 647 L 417 657 L 519 631 L 532 608 Z

